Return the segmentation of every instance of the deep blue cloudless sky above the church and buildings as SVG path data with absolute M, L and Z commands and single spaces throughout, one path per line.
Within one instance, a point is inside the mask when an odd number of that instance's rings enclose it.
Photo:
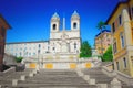
M 99 21 L 106 21 L 119 0 L 0 0 L 0 13 L 12 26 L 7 32 L 7 42 L 48 41 L 50 19 L 58 12 L 60 19 L 70 19 L 74 10 L 81 18 L 82 41 L 93 46 Z

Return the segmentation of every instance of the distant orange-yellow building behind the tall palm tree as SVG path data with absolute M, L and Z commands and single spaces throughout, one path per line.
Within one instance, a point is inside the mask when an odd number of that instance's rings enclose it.
M 95 35 L 95 50 L 98 53 L 104 54 L 108 47 L 111 45 L 111 32 L 109 30 L 103 30 L 101 33 Z

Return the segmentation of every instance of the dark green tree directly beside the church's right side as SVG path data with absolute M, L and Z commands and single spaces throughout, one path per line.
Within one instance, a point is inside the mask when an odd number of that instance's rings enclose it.
M 80 57 L 91 57 L 92 56 L 91 45 L 88 43 L 88 41 L 84 41 L 81 44 L 80 52 L 81 52 Z

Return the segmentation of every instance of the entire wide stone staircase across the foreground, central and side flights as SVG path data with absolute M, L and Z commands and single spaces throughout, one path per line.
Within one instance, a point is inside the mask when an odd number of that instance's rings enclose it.
M 76 69 L 40 69 L 38 74 L 29 76 L 34 69 L 25 69 L 24 72 L 14 72 L 9 75 L 0 76 L 0 88 L 101 88 L 99 84 L 108 84 L 111 88 L 113 77 L 109 77 L 102 72 L 101 67 L 80 69 L 84 75 L 80 76 Z M 25 79 L 20 80 L 20 76 L 24 75 Z M 84 76 L 95 79 L 90 85 Z M 17 86 L 12 86 L 12 80 L 18 79 Z M 122 88 L 133 88 L 122 82 Z M 103 88 L 103 87 L 102 87 Z

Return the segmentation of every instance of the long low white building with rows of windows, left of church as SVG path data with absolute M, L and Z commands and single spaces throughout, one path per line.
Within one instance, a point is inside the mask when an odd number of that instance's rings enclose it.
M 48 41 L 7 43 L 6 53 L 17 57 L 34 57 L 48 53 Z

